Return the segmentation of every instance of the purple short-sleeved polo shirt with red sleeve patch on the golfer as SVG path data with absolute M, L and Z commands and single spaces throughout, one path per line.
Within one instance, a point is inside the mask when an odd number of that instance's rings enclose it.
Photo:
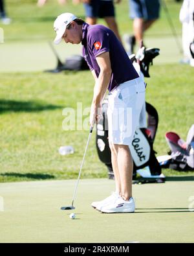
M 103 52 L 109 52 L 112 69 L 109 91 L 126 81 L 138 78 L 135 67 L 133 67 L 122 43 L 116 38 L 112 30 L 103 25 L 89 25 L 87 23 L 83 23 L 82 30 L 82 54 L 89 68 L 91 71 L 95 71 L 97 77 L 100 74 L 100 67 L 96 62 L 96 56 Z

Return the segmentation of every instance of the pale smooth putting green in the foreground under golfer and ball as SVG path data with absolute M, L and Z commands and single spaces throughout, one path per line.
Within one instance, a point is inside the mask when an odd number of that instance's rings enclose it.
M 76 209 L 61 211 L 71 204 L 75 183 L 0 184 L 0 242 L 194 242 L 193 177 L 133 185 L 136 212 L 130 214 L 92 209 L 92 201 L 114 190 L 107 179 L 80 180 Z

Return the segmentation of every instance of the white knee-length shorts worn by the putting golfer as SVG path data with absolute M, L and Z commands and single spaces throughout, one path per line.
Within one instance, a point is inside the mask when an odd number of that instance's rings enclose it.
M 120 84 L 109 93 L 109 143 L 131 145 L 145 104 L 145 92 L 144 80 L 139 77 Z

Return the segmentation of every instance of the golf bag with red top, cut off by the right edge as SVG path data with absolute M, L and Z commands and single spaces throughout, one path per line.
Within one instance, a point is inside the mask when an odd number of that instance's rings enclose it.
M 166 141 L 171 157 L 161 167 L 174 170 L 194 170 L 194 124 L 184 141 L 175 132 L 167 132 Z

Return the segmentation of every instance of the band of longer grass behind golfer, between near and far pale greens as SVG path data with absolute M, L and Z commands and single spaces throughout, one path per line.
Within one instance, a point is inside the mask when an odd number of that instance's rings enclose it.
M 156 65 L 147 78 L 147 102 L 159 115 L 154 148 L 167 154 L 165 133 L 177 132 L 186 139 L 193 124 L 193 69 L 184 65 Z M 78 130 L 88 121 L 93 78 L 89 71 L 49 73 L 2 73 L 0 82 L 1 161 L 0 181 L 77 178 L 89 130 Z M 81 102 L 81 108 L 77 103 Z M 80 105 L 79 105 L 80 106 Z M 75 110 L 76 130 L 63 130 L 64 108 Z M 78 108 L 78 110 L 77 110 Z M 80 124 L 79 124 L 80 125 Z M 59 155 L 59 146 L 72 145 L 74 154 Z M 166 176 L 193 176 L 193 172 L 164 169 Z M 107 169 L 98 159 L 92 134 L 82 178 L 105 178 Z

